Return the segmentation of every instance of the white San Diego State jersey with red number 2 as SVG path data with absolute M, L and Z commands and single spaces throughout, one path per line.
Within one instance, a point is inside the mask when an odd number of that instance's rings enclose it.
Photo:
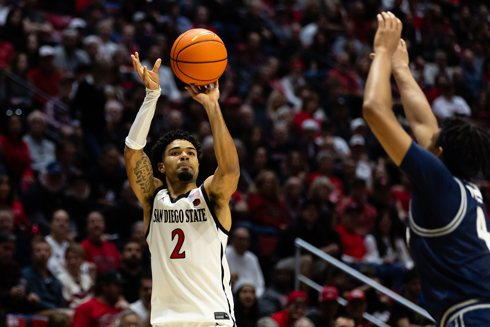
M 235 326 L 228 231 L 210 205 L 204 185 L 177 199 L 163 186 L 153 194 L 147 241 L 151 252 L 153 326 L 172 322 Z

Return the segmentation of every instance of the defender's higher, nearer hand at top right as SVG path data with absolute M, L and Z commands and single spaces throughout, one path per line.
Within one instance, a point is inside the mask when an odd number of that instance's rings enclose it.
M 402 23 L 391 12 L 378 14 L 378 30 L 374 36 L 374 53 L 387 52 L 392 56 L 400 42 Z

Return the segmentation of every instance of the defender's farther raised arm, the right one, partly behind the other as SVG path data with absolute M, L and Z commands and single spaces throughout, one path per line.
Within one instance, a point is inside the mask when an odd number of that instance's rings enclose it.
M 429 101 L 418 86 L 408 67 L 407 46 L 400 39 L 398 48 L 392 56 L 392 73 L 400 90 L 401 103 L 408 123 L 417 143 L 427 149 L 432 135 L 439 130 L 436 116 L 432 113 Z

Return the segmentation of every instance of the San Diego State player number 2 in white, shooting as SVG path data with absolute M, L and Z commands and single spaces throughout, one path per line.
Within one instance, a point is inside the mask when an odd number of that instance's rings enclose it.
M 151 71 L 138 53 L 134 69 L 147 87 L 147 96 L 126 138 L 126 172 L 144 208 L 151 252 L 153 326 L 235 326 L 230 272 L 224 249 L 231 227 L 228 202 L 240 175 L 238 155 L 223 121 L 214 87 L 186 87 L 209 117 L 218 169 L 196 186 L 201 145 L 183 130 L 172 130 L 152 148 L 152 159 L 165 183 L 153 177 L 143 152 L 155 104 L 160 96 L 158 59 Z

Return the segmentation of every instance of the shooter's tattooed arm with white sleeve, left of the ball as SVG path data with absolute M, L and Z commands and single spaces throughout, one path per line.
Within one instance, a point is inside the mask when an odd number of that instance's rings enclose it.
M 141 66 L 138 52 L 136 52 L 136 55 L 131 55 L 131 58 L 133 59 L 134 69 L 138 72 L 138 75 L 147 87 L 147 96 L 126 137 L 124 161 L 126 162 L 126 173 L 131 188 L 143 208 L 149 209 L 153 192 L 157 187 L 162 185 L 162 181 L 153 177 L 150 159 L 143 151 L 143 148 L 147 144 L 151 119 L 155 113 L 156 101 L 160 96 L 158 68 L 162 60 L 158 59 L 153 70 L 148 71 L 146 66 Z M 149 216 L 146 217 L 146 214 L 147 210 L 145 210 L 145 228 L 148 226 L 147 219 L 149 219 Z

